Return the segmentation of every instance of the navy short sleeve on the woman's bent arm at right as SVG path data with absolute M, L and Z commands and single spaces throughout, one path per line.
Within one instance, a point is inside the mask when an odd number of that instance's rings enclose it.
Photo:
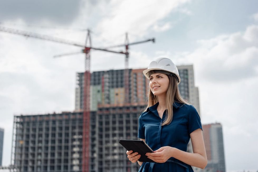
M 197 110 L 191 105 L 188 116 L 188 133 L 190 134 L 198 128 L 202 129 L 201 119 Z

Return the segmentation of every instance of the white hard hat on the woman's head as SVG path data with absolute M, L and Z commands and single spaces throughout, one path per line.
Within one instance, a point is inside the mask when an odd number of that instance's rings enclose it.
M 164 58 L 164 57 L 158 58 L 150 63 L 148 69 L 143 71 L 144 76 L 148 79 L 149 79 L 149 71 L 151 71 L 151 70 L 167 71 L 167 72 L 165 72 L 165 74 L 176 75 L 176 77 L 178 78 L 178 84 L 181 81 L 176 65 L 173 63 L 173 61 L 171 61 L 168 58 Z M 156 73 L 158 73 L 158 72 L 156 72 Z

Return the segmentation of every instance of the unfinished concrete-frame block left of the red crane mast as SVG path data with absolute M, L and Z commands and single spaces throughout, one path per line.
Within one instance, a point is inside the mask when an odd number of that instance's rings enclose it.
M 82 112 L 14 117 L 12 165 L 17 171 L 80 171 Z

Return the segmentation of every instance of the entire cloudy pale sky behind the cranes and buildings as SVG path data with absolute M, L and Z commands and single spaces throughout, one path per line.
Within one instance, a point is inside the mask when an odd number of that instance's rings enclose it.
M 255 0 L 0 1 L 0 26 L 92 46 L 156 38 L 130 47 L 130 68 L 157 57 L 193 64 L 202 123 L 223 126 L 226 169 L 258 170 L 258 2 Z M 3 165 L 11 159 L 14 114 L 73 111 L 84 54 L 69 45 L 0 32 Z M 123 50 L 116 49 L 116 50 Z M 91 70 L 122 69 L 124 55 L 91 52 Z M 115 62 L 115 63 L 114 63 Z

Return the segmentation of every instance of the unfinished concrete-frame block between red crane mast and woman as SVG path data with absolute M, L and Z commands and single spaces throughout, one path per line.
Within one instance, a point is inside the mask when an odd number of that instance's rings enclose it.
M 119 139 L 137 140 L 138 117 L 145 104 L 130 106 L 103 105 L 95 117 L 96 140 L 91 141 L 96 150 L 95 168 L 98 172 L 138 171 L 140 166 L 131 163 Z

